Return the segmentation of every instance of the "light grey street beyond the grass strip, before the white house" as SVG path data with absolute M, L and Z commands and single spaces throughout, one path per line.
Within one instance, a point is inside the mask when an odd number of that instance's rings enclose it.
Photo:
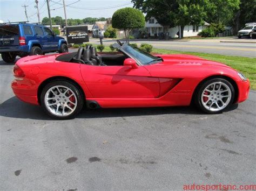
M 214 53 L 221 55 L 232 55 L 232 56 L 245 56 L 256 58 L 256 41 L 254 39 L 241 39 L 245 42 L 255 43 L 220 43 L 223 39 L 209 39 L 209 40 L 190 40 L 190 41 L 159 41 L 159 40 L 136 40 L 133 39 L 131 43 L 148 43 L 153 45 L 154 48 L 171 49 L 174 51 L 186 51 L 186 52 L 203 52 L 203 53 Z M 227 39 L 233 40 L 236 39 Z M 240 39 L 239 39 L 240 40 Z M 98 39 L 90 39 L 91 43 L 99 44 Z M 104 39 L 104 44 L 109 45 L 114 43 L 116 40 Z M 238 40 L 237 40 L 238 41 Z

